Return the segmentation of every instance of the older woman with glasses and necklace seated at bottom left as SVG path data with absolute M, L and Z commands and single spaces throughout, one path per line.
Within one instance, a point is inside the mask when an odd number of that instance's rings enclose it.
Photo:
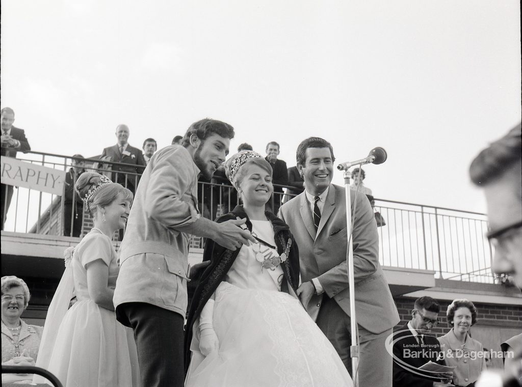
M 2 277 L 2 365 L 34 366 L 43 328 L 28 325 L 20 316 L 29 304 L 26 283 L 8 275 Z M 24 376 L 8 376 L 9 380 L 25 380 Z M 3 376 L 3 381 L 6 379 Z

